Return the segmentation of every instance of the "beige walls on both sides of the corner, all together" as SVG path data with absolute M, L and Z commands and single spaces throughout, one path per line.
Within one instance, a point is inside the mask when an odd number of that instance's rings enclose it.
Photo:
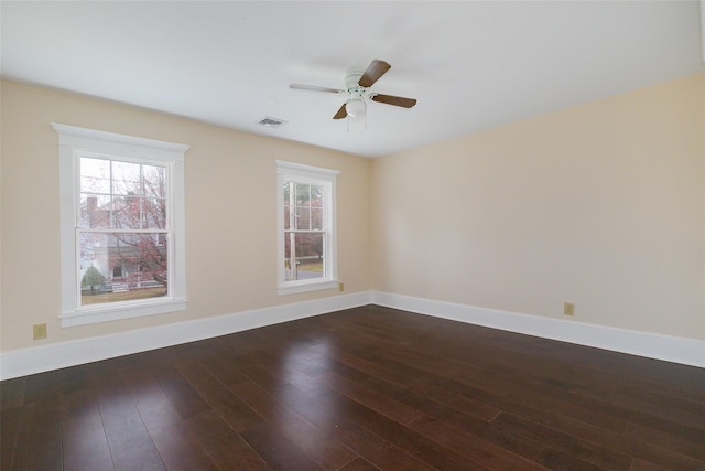
M 13 82 L 0 92 L 0 351 L 337 296 L 276 296 L 275 159 L 341 170 L 346 293 L 705 339 L 703 75 L 373 161 Z M 52 121 L 192 146 L 186 311 L 61 328 Z M 32 341 L 42 322 L 48 339 Z

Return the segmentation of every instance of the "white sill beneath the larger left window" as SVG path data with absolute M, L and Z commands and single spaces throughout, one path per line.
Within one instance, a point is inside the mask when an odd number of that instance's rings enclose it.
M 145 302 L 131 306 L 110 306 L 101 308 L 80 308 L 59 315 L 63 328 L 117 321 L 120 319 L 141 318 L 144 315 L 164 314 L 186 310 L 186 299 L 169 299 L 165 301 Z

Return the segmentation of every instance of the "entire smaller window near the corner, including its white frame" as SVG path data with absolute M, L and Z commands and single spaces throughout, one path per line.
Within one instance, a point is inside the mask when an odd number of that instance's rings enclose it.
M 338 287 L 336 170 L 276 161 L 279 293 Z

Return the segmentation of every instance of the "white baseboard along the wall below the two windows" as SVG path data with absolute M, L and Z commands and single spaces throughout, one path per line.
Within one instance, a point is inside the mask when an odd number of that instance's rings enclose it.
M 210 339 L 370 303 L 370 292 L 333 296 L 0 354 L 0 379 Z

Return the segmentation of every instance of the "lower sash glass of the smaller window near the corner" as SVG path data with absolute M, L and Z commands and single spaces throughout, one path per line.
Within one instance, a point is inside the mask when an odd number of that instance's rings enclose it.
M 284 234 L 286 281 L 323 278 L 323 234 Z

